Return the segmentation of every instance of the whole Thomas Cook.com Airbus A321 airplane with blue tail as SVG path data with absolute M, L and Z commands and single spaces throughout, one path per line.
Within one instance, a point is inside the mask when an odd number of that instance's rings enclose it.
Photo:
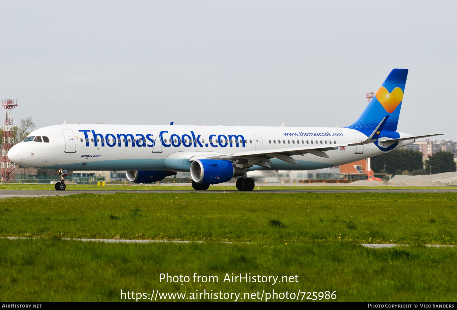
M 397 132 L 408 69 L 393 69 L 361 116 L 345 128 L 201 125 L 64 124 L 32 131 L 8 151 L 18 165 L 56 170 L 124 171 L 128 181 L 152 183 L 191 172 L 192 187 L 236 181 L 252 191 L 255 170 L 313 170 L 366 159 L 413 143 Z

